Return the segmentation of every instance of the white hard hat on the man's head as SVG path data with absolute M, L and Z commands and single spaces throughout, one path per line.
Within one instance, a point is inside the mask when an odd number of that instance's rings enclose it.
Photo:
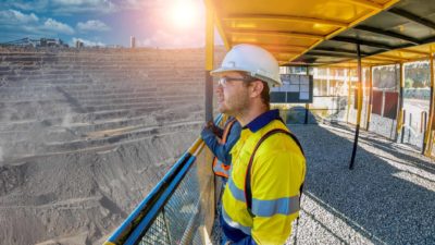
M 212 76 L 224 72 L 246 72 L 269 84 L 269 87 L 282 86 L 279 65 L 276 59 L 263 48 L 253 45 L 236 45 L 226 53 L 220 69 Z

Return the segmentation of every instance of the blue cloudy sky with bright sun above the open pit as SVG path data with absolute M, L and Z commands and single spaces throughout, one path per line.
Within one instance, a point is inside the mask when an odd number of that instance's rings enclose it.
M 203 47 L 204 20 L 202 0 L 0 0 L 0 42 L 129 47 L 135 36 L 138 47 Z

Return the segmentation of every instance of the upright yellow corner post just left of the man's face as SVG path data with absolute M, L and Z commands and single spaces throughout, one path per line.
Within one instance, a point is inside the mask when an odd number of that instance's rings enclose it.
M 213 70 L 214 59 L 214 14 L 207 8 L 206 20 L 206 122 L 213 120 L 213 78 L 210 71 Z

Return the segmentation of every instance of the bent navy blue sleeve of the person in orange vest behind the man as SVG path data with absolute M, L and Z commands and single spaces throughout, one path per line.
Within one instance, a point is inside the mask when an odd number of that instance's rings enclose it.
M 241 131 L 240 124 L 238 122 L 235 122 L 229 132 L 226 144 L 224 145 L 219 143 L 216 136 L 209 128 L 202 130 L 201 137 L 204 140 L 206 145 L 210 148 L 213 155 L 217 157 L 219 160 L 221 160 L 226 164 L 229 164 L 232 160 L 229 151 L 240 137 L 240 131 Z

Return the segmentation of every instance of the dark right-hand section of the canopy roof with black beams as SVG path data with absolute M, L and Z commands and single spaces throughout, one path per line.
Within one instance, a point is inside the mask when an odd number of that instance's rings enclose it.
M 332 49 L 337 54 L 348 57 L 349 52 L 357 52 L 356 46 L 360 44 L 363 61 L 376 65 L 425 59 L 431 52 L 428 47 L 433 46 L 425 44 L 435 41 L 434 20 L 433 0 L 403 0 L 391 9 L 341 32 L 331 40 L 323 41 L 314 50 Z M 413 48 L 414 46 L 419 47 Z M 343 52 L 343 49 L 346 52 Z M 316 54 L 319 60 L 322 53 Z M 352 62 L 356 63 L 356 60 L 346 63 Z

